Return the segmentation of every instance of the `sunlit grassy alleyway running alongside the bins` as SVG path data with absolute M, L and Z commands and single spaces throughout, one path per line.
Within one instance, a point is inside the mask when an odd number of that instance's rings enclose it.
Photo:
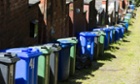
M 140 84 L 140 8 L 123 41 L 110 46 L 92 68 L 77 70 L 60 84 Z

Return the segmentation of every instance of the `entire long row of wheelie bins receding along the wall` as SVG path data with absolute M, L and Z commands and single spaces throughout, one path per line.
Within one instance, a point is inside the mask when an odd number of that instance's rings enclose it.
M 0 84 L 57 84 L 75 73 L 76 44 L 90 60 L 103 56 L 104 49 L 124 36 L 135 9 L 129 6 L 124 21 L 117 26 L 80 32 L 75 37 L 58 39 L 57 43 L 7 49 L 0 53 Z M 79 48 L 79 47 L 78 47 Z

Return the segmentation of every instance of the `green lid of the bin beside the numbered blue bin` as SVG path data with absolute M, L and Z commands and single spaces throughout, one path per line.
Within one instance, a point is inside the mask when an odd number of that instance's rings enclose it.
M 42 54 L 50 54 L 50 48 L 43 45 L 31 46 L 29 48 L 37 48 Z

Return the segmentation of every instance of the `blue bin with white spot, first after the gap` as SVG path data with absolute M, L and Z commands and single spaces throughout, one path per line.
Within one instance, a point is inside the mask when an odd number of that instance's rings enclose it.
M 94 32 L 81 32 L 80 33 L 80 45 L 81 45 L 81 50 L 82 50 L 82 55 L 87 55 L 89 56 L 90 60 L 93 60 L 93 57 L 95 55 L 94 52 L 94 39 L 97 36 L 96 33 Z

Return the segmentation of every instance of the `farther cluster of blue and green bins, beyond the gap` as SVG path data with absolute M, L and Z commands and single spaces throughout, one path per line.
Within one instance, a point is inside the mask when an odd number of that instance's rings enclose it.
M 120 24 L 107 28 L 96 28 L 93 31 L 80 32 L 81 54 L 89 56 L 90 60 L 98 59 L 98 56 L 103 56 L 104 49 L 108 49 L 109 44 L 123 38 L 125 29 Z

